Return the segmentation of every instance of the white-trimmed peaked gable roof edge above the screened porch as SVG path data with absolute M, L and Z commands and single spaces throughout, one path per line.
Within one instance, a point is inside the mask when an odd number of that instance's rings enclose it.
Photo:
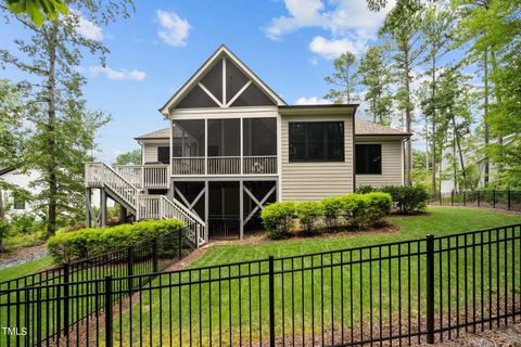
M 167 116 L 169 110 L 175 107 L 195 86 L 199 81 L 205 76 L 205 74 L 216 64 L 216 62 L 223 57 L 230 60 L 236 64 L 242 73 L 244 73 L 252 82 L 260 88 L 266 95 L 271 99 L 276 105 L 285 105 L 285 102 L 280 98 L 271 88 L 269 88 L 254 72 L 250 69 L 239 57 L 237 57 L 233 52 L 231 52 L 225 44 L 221 44 L 195 72 L 195 74 L 190 77 L 185 85 L 160 108 L 160 112 Z

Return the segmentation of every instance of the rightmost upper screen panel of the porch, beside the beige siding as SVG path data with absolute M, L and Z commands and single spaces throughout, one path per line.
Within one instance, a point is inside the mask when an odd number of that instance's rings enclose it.
M 277 155 L 277 118 L 244 118 L 244 156 Z

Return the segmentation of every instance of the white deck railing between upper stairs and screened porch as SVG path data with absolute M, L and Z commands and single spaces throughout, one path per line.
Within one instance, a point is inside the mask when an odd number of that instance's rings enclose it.
M 168 188 L 168 165 L 120 165 L 116 171 L 140 189 Z

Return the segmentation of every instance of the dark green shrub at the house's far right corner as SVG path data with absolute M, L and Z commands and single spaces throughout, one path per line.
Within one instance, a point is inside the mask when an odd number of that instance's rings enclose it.
M 429 195 L 422 187 L 387 185 L 381 191 L 391 194 L 394 207 L 401 213 L 419 213 L 427 207 Z

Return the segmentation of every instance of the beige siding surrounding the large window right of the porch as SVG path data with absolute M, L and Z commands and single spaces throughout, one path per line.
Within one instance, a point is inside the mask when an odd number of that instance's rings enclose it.
M 290 163 L 290 121 L 344 121 L 344 157 L 342 163 Z M 282 201 L 317 201 L 326 196 L 353 192 L 353 117 L 282 116 L 281 119 Z

